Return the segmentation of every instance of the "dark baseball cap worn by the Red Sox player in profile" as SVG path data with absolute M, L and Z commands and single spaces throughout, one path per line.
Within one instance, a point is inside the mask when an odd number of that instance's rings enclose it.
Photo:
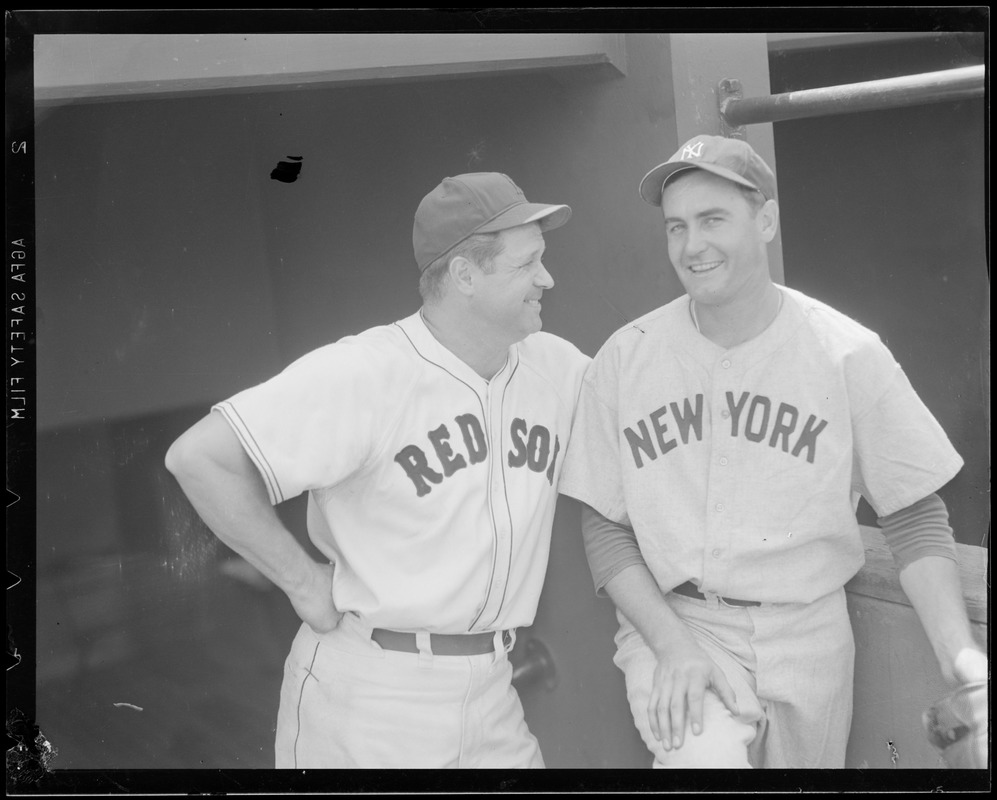
M 528 222 L 537 222 L 541 231 L 548 231 L 570 217 L 568 206 L 528 202 L 523 190 L 500 172 L 444 178 L 422 198 L 415 212 L 415 261 L 422 272 L 475 233 L 504 231 Z

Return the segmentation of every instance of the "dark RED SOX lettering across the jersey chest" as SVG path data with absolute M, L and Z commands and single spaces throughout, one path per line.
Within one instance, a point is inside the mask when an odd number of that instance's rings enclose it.
M 459 440 L 451 434 L 446 423 L 426 433 L 432 445 L 431 452 L 435 455 L 434 466 L 438 466 L 438 470 L 430 465 L 426 450 L 416 444 L 403 447 L 395 456 L 395 461 L 405 470 L 419 497 L 429 494 L 433 484 L 442 483 L 444 479 L 480 464 L 488 457 L 488 439 L 481 420 L 474 414 L 460 414 L 454 418 L 454 424 Z M 554 467 L 561 451 L 557 434 L 553 435 L 552 444 L 551 432 L 545 426 L 530 425 L 525 419 L 516 417 L 509 426 L 509 436 L 512 449 L 507 455 L 508 465 L 514 469 L 527 467 L 541 473 L 553 486 Z M 462 451 L 454 450 L 461 444 Z

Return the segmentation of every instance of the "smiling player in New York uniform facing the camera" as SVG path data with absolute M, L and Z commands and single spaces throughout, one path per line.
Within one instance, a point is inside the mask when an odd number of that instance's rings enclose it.
M 943 674 L 986 678 L 935 494 L 962 460 L 876 334 L 771 281 L 748 144 L 697 136 L 640 194 L 687 294 L 596 355 L 561 482 L 635 724 L 656 767 L 843 767 L 859 495 Z

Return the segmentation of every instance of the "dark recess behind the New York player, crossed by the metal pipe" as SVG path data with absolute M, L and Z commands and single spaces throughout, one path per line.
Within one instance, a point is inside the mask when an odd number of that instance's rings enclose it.
M 983 63 L 983 37 L 787 51 L 774 94 Z M 776 123 L 788 286 L 875 330 L 965 466 L 956 540 L 990 529 L 990 277 L 983 98 Z M 863 524 L 875 514 L 863 501 Z

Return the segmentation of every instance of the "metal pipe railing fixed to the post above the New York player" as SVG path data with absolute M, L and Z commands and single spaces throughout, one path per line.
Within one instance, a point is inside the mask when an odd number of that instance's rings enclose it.
M 963 100 L 982 95 L 985 78 L 986 67 L 981 64 L 767 97 L 741 98 L 735 93 L 721 99 L 720 116 L 727 125 L 736 128 L 760 122 Z M 721 92 L 729 92 L 729 87 L 736 83 L 721 82 Z

